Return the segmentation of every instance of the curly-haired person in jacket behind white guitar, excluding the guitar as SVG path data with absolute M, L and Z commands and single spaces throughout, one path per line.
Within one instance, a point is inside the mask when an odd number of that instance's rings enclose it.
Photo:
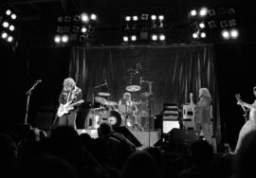
M 72 104 L 82 99 L 82 90 L 76 86 L 75 80 L 72 78 L 64 79 L 64 87 L 59 96 L 59 109 L 67 102 Z M 59 118 L 59 126 L 71 126 L 76 130 L 76 116 L 79 111 L 79 105 L 75 105 L 73 110 L 70 110 L 64 116 Z

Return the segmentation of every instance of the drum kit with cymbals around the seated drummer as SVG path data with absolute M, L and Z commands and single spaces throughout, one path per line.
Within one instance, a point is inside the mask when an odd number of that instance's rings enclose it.
M 139 85 L 128 85 L 125 87 L 127 92 L 137 92 L 141 90 Z M 139 96 L 142 98 L 148 98 L 152 96 L 153 93 L 144 92 Z M 121 126 L 123 124 L 123 115 L 119 111 L 118 102 L 108 100 L 107 97 L 110 97 L 111 94 L 107 92 L 99 92 L 97 97 L 94 98 L 94 101 L 101 104 L 98 108 L 91 109 L 91 116 L 93 117 L 93 129 L 98 129 L 101 122 L 107 121 L 113 126 Z

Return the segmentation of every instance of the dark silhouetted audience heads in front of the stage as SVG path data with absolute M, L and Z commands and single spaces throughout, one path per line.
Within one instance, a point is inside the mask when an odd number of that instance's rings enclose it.
M 235 154 L 213 154 L 205 140 L 179 155 L 155 147 L 136 150 L 112 126 L 101 123 L 99 137 L 59 126 L 49 135 L 31 128 L 16 143 L 0 134 L 0 175 L 74 178 L 250 178 L 255 177 L 256 131 L 245 136 Z

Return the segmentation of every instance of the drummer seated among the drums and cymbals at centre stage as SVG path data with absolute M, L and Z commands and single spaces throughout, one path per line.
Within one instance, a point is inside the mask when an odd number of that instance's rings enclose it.
M 133 129 L 143 131 L 142 126 L 140 125 L 140 123 L 137 122 L 137 103 L 131 98 L 132 95 L 129 92 L 125 92 L 123 94 L 123 98 L 119 99 L 118 103 L 119 113 L 121 114 L 121 116 L 123 116 L 122 119 L 124 119 L 124 123 L 126 126 L 130 126 L 130 123 Z

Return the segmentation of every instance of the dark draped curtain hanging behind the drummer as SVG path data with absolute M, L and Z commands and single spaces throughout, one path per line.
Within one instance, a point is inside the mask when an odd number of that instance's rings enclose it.
M 142 101 L 139 110 L 146 112 L 147 98 L 141 95 L 150 91 L 152 82 L 153 116 L 161 114 L 164 103 L 188 103 L 190 92 L 198 96 L 200 87 L 208 87 L 214 130 L 220 129 L 213 45 L 74 47 L 69 76 L 82 87 L 87 102 L 99 92 L 108 92 L 108 100 L 118 101 L 127 86 L 139 85 L 132 97 Z M 140 84 L 140 78 L 149 82 Z M 104 80 L 107 85 L 94 89 Z

